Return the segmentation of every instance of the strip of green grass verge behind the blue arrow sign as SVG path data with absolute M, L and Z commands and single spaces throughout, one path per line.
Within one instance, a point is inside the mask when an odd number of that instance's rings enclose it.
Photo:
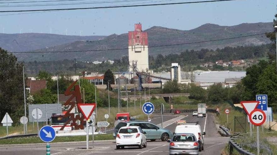
M 97 134 L 94 135 L 94 140 L 113 140 L 112 134 Z M 86 136 L 61 136 L 56 137 L 52 142 L 80 142 L 86 141 Z M 89 135 L 89 141 L 92 141 L 92 136 Z M 0 145 L 4 144 L 31 144 L 31 143 L 43 143 L 39 137 L 20 137 L 0 140 Z

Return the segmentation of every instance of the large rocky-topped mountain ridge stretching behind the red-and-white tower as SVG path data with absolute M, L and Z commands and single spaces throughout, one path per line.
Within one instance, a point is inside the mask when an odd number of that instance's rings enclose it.
M 200 42 L 214 39 L 232 38 L 251 34 L 260 34 L 273 31 L 273 23 L 242 23 L 235 26 L 219 26 L 216 24 L 204 24 L 198 28 L 191 30 L 178 30 L 154 26 L 146 29 L 149 36 L 149 46 L 181 44 Z M 268 44 L 270 40 L 265 35 L 257 35 L 252 37 L 244 37 L 237 39 L 229 39 L 222 41 L 184 44 L 176 46 L 155 47 L 149 49 L 150 55 L 180 53 L 186 49 L 221 49 L 226 46 L 256 46 Z M 79 50 L 99 50 L 99 49 L 122 49 L 128 47 L 127 34 L 112 34 L 104 39 L 94 41 L 75 41 L 72 43 L 43 48 L 39 51 L 79 51 Z M 127 55 L 127 49 L 98 51 L 98 52 L 72 52 L 72 53 L 39 53 L 39 54 L 16 54 L 20 60 L 60 60 L 60 59 L 78 59 L 78 60 L 107 60 L 118 59 Z

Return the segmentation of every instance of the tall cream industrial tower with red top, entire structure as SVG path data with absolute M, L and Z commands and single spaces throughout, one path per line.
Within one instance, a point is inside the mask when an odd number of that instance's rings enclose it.
M 141 24 L 135 24 L 135 30 L 129 31 L 129 65 L 136 63 L 138 71 L 146 71 L 149 69 L 148 62 L 148 34 L 142 32 Z M 129 68 L 129 72 L 132 72 Z

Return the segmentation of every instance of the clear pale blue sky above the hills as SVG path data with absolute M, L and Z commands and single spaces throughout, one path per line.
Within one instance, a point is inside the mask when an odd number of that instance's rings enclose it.
M 108 0 L 81 0 L 56 3 L 89 3 L 95 1 L 106 2 Z M 196 0 L 139 0 L 124 3 L 43 7 L 11 7 L 12 5 L 22 4 L 8 3 L 0 4 L 0 10 L 83 8 L 192 1 Z M 15 0 L 3 0 L 1 2 L 15 2 Z M 23 4 L 27 5 L 29 3 Z M 30 4 L 42 4 L 42 2 Z M 134 23 L 139 22 L 142 23 L 144 30 L 152 26 L 189 30 L 205 23 L 232 26 L 240 23 L 272 22 L 274 14 L 277 13 L 276 4 L 276 0 L 238 0 L 164 6 L 54 11 L 31 14 L 0 13 L 0 33 L 15 34 L 20 33 L 20 31 L 21 33 L 50 33 L 51 31 L 52 34 L 66 34 L 67 32 L 67 35 L 110 35 L 133 31 Z M 3 7 L 3 5 L 9 5 L 9 7 Z

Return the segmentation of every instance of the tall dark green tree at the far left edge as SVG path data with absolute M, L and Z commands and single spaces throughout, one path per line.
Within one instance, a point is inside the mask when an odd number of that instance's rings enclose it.
M 14 124 L 24 115 L 22 68 L 13 54 L 0 48 L 0 119 L 8 112 Z

